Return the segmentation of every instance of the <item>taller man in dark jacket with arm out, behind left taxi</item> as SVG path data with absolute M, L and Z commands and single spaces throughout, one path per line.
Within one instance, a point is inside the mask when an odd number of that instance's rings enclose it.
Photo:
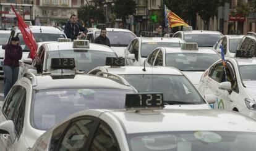
M 79 35 L 80 31 L 82 31 L 82 33 Z M 70 38 L 73 41 L 74 39 L 85 37 L 87 32 L 88 30 L 77 22 L 77 15 L 72 14 L 70 16 L 70 20 L 67 21 L 64 28 L 64 33 L 66 34 L 67 38 Z

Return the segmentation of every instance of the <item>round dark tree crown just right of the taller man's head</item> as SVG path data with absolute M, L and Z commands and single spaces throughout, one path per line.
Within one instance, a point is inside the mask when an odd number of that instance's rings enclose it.
M 83 6 L 82 9 L 77 12 L 78 18 L 83 20 L 83 22 L 89 22 L 89 27 L 91 26 L 91 19 L 95 22 L 104 23 L 105 16 L 102 9 L 96 9 L 94 6 Z

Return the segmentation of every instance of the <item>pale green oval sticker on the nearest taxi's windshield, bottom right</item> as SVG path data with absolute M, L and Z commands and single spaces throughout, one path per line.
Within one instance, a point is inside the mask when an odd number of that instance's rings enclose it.
M 197 131 L 194 136 L 202 142 L 220 142 L 222 140 L 219 134 L 210 131 Z

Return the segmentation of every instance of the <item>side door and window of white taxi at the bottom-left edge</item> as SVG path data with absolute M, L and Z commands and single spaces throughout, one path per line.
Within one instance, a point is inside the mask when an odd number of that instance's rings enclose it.
M 1 150 L 17 150 L 23 129 L 25 100 L 26 89 L 22 86 L 14 86 L 4 102 L 2 113 L 6 117 L 6 120 L 12 120 L 14 122 L 17 138 L 12 143 L 9 134 L 0 134 Z

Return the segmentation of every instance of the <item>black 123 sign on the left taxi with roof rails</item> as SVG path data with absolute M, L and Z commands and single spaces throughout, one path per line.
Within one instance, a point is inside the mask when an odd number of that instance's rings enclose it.
M 74 69 L 74 58 L 53 58 L 51 59 L 51 68 L 53 69 Z

